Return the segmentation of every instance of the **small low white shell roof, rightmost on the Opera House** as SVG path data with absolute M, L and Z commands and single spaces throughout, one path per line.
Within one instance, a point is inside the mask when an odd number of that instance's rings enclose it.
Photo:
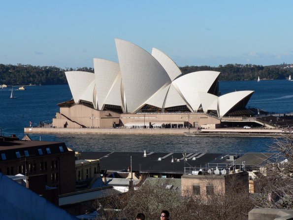
M 254 93 L 254 91 L 237 91 L 225 94 L 219 97 L 219 114 L 220 117 L 224 116 L 230 109 L 237 103 Z

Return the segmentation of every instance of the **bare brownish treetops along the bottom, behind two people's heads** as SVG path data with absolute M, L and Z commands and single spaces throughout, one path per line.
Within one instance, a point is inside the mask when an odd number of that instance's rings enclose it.
M 162 210 L 168 210 L 170 219 L 246 220 L 253 204 L 247 190 L 243 191 L 236 181 L 233 184 L 228 192 L 218 190 L 208 196 L 191 191 L 182 196 L 180 189 L 143 184 L 137 190 L 98 202 L 104 219 L 131 220 L 137 213 L 143 213 L 146 220 L 156 220 Z

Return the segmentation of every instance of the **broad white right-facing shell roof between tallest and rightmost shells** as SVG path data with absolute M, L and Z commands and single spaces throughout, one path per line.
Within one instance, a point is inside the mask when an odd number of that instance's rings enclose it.
M 196 111 L 201 104 L 197 92 L 208 92 L 219 74 L 220 72 L 215 71 L 198 71 L 183 75 L 172 83 L 180 90 L 180 93 L 192 109 Z

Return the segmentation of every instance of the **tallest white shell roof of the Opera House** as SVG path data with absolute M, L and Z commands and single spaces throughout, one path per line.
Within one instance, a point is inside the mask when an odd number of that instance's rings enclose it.
M 128 112 L 135 112 L 159 89 L 171 83 L 171 80 L 150 53 L 126 40 L 115 39 L 115 42 L 126 108 Z

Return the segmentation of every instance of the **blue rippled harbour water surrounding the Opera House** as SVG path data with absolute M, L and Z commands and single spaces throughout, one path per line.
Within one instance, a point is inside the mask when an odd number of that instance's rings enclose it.
M 221 94 L 254 90 L 247 107 L 283 114 L 293 112 L 293 82 L 288 80 L 225 81 L 219 82 Z M 15 89 L 15 88 L 14 88 Z M 68 85 L 27 86 L 15 90 L 0 90 L 0 129 L 2 135 L 16 134 L 22 138 L 24 127 L 51 123 L 58 103 L 70 100 Z M 272 138 L 216 138 L 178 135 L 30 135 L 33 140 L 63 141 L 74 150 L 152 152 L 265 152 L 275 142 Z

